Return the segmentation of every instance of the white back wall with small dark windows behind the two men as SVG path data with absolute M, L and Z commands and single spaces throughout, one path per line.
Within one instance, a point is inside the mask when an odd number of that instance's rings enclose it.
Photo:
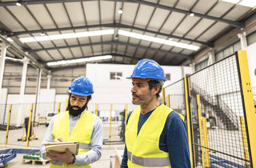
M 88 77 L 95 90 L 92 103 L 131 103 L 131 79 L 130 77 L 135 65 L 123 64 L 87 64 L 86 77 Z M 165 85 L 170 85 L 178 81 L 185 74 L 191 74 L 191 67 L 181 66 L 161 66 L 165 73 L 171 74 L 171 81 L 166 81 Z M 110 72 L 122 72 L 122 80 L 110 80 Z M 107 106 L 107 105 L 106 105 Z

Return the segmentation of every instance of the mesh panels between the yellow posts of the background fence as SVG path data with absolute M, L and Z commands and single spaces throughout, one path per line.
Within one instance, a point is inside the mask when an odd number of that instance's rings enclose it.
M 1 117 L 0 117 L 0 130 L 6 130 L 7 119 L 9 114 L 10 104 L 0 104 Z M 35 125 L 43 125 L 48 127 L 52 115 L 48 117 L 48 114 L 57 114 L 58 106 L 60 112 L 64 112 L 66 108 L 66 102 L 49 102 L 38 103 L 37 106 L 33 104 L 33 116 L 35 115 Z M 124 142 L 125 138 L 125 108 L 127 108 L 127 114 L 136 108 L 133 104 L 95 104 L 89 103 L 88 110 L 93 114 L 98 115 L 103 121 L 103 140 L 104 141 L 116 141 Z M 17 129 L 18 135 L 25 135 L 25 118 L 29 117 L 31 104 L 12 104 L 12 112 L 10 116 L 10 129 L 16 129 L 17 127 L 23 127 L 23 129 Z M 36 111 L 35 111 L 36 109 Z M 97 109 L 97 112 L 96 112 Z M 36 113 L 35 113 L 36 112 Z M 111 115 L 110 115 L 111 113 Z M 111 116 L 111 122 L 110 122 Z M 42 129 L 40 127 L 39 129 Z M 37 130 L 37 129 L 34 129 Z

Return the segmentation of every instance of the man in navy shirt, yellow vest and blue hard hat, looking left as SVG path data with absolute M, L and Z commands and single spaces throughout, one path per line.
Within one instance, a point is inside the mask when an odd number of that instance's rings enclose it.
M 191 167 L 184 117 L 158 101 L 166 81 L 163 68 L 143 59 L 129 79 L 132 103 L 140 106 L 127 117 L 121 168 Z

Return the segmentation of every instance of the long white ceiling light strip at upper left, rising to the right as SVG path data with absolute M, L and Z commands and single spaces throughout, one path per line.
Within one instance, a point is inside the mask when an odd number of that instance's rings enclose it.
M 79 37 L 93 37 L 93 36 L 113 35 L 113 34 L 114 34 L 114 29 L 107 29 L 107 30 L 95 30 L 95 31 L 80 32 L 80 33 L 66 33 L 66 34 L 59 34 L 59 35 L 25 37 L 25 38 L 20 38 L 20 41 L 22 43 L 29 43 L 29 42 L 37 42 L 37 41 L 72 39 L 72 38 L 79 38 Z

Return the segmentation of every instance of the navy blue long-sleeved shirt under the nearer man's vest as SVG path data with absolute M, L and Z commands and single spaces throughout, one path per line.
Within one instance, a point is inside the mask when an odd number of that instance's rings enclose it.
M 138 121 L 138 133 L 140 132 L 142 125 L 154 110 L 147 112 L 144 115 L 140 114 Z M 127 117 L 127 123 L 130 116 L 131 113 Z M 191 168 L 186 125 L 176 112 L 170 112 L 167 116 L 165 126 L 163 127 L 163 131 L 160 135 L 159 149 L 164 152 L 169 152 L 172 168 Z M 127 148 L 125 146 L 121 168 L 127 167 Z

